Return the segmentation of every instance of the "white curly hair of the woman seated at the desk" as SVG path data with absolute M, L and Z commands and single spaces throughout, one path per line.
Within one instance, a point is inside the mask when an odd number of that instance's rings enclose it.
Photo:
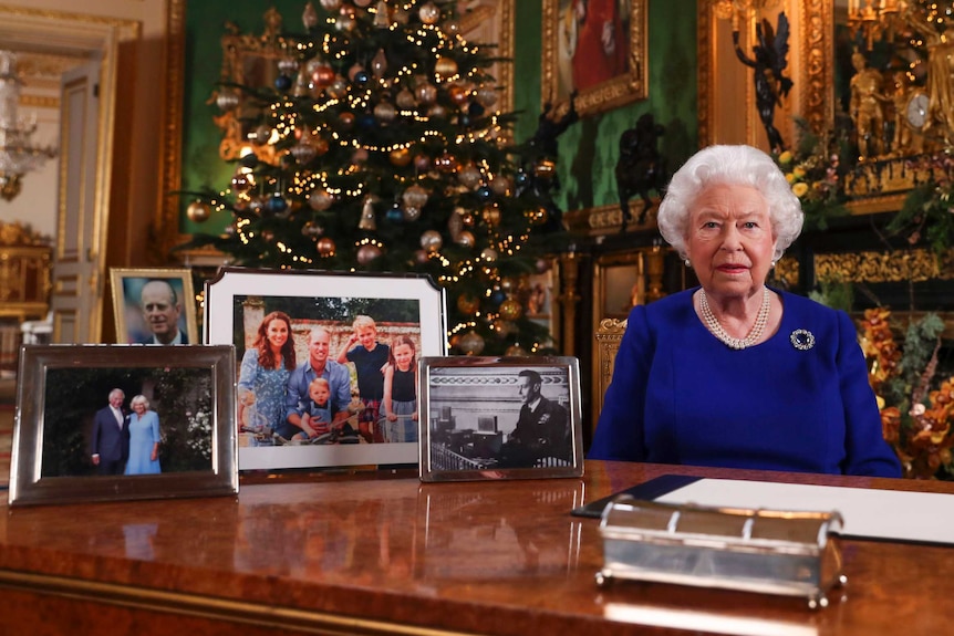
M 676 170 L 660 204 L 660 233 L 681 258 L 686 257 L 692 206 L 704 189 L 714 185 L 750 186 L 761 192 L 776 238 L 774 260 L 781 258 L 801 233 L 801 204 L 771 157 L 751 146 L 708 146 Z

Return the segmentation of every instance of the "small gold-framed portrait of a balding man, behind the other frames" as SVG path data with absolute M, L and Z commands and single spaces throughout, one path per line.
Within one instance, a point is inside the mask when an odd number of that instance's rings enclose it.
M 112 268 L 110 279 L 117 343 L 201 344 L 190 270 Z

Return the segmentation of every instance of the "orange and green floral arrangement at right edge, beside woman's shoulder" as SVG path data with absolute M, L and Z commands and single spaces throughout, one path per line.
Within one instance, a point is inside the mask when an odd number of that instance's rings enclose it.
M 904 477 L 954 479 L 954 376 L 931 389 L 944 323 L 933 313 L 912 320 L 902 347 L 890 319 L 884 307 L 865 310 L 860 338 L 884 439 L 901 459 Z

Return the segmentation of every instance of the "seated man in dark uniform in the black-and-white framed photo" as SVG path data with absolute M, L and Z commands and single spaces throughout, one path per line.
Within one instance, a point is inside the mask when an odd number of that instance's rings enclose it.
M 536 371 L 521 371 L 518 382 L 523 406 L 517 427 L 500 450 L 501 468 L 532 468 L 542 458 L 569 461 L 572 445 L 567 409 L 543 397 L 543 378 Z

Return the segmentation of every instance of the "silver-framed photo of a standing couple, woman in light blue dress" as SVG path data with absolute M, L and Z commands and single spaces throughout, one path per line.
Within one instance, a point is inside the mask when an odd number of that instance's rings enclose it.
M 238 492 L 231 345 L 23 345 L 10 505 Z

